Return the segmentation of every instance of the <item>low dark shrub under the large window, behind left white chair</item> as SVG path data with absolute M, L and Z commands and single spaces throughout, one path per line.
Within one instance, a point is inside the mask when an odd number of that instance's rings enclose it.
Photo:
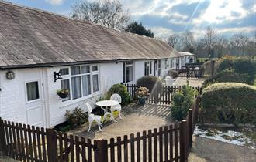
M 72 112 L 70 110 L 66 111 L 65 118 L 71 127 L 80 127 L 81 124 L 85 123 L 88 119 L 88 114 L 84 113 L 81 108 L 75 108 Z

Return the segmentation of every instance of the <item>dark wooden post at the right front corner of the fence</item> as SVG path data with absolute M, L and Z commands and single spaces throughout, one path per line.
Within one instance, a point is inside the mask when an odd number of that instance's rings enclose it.
M 182 120 L 182 122 L 179 124 L 179 143 L 180 143 L 180 162 L 186 162 L 187 160 L 187 146 L 186 146 L 186 125 L 187 121 Z

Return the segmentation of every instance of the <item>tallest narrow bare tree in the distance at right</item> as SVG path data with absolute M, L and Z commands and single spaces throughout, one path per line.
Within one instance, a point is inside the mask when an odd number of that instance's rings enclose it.
M 211 59 L 213 57 L 213 46 L 215 44 L 216 41 L 216 31 L 214 29 L 212 29 L 210 26 L 208 26 L 206 28 L 206 32 L 204 35 L 204 42 L 206 45 L 206 50 L 209 56 L 209 59 Z

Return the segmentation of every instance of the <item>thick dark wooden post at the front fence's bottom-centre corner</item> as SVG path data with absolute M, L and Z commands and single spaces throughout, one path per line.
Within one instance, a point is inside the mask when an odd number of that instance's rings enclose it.
M 107 140 L 96 140 L 96 156 L 98 161 L 95 162 L 106 162 L 108 161 L 108 141 Z

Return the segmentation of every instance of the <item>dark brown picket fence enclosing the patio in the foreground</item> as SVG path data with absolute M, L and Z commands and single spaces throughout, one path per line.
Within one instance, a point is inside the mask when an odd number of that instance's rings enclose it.
M 0 152 L 20 161 L 184 162 L 192 147 L 199 100 L 180 123 L 110 140 L 92 141 L 0 119 Z

